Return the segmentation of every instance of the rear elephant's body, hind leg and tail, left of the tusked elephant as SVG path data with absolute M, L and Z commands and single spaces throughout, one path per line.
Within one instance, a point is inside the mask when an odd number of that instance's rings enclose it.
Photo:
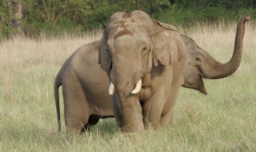
M 78 48 L 66 60 L 54 82 L 54 97 L 60 130 L 58 87 L 62 85 L 64 118 L 67 130 L 79 133 L 93 126 L 99 118 L 114 117 L 109 79 L 98 65 L 99 41 Z M 106 103 L 106 104 L 105 104 Z

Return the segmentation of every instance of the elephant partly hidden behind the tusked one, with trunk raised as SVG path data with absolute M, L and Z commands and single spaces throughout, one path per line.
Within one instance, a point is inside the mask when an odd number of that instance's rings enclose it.
M 241 18 L 238 22 L 238 30 L 235 38 L 234 54 L 230 62 L 222 64 L 217 62 L 199 47 L 192 38 L 180 34 L 186 45 L 186 65 L 184 72 L 184 83 L 182 86 L 206 93 L 202 78 L 228 77 L 233 74 L 241 62 L 242 40 L 245 31 L 245 22 L 249 15 Z M 109 78 L 98 64 L 98 46 L 100 41 L 78 48 L 66 60 L 59 70 L 54 81 L 54 98 L 58 116 L 58 131 L 60 131 L 60 109 L 58 88 L 62 86 L 64 99 L 64 114 L 67 130 L 81 133 L 89 126 L 94 126 L 99 118 L 113 118 L 111 97 L 108 93 Z M 229 65 L 223 72 L 209 74 L 214 65 Z M 223 74 L 225 73 L 225 74 Z

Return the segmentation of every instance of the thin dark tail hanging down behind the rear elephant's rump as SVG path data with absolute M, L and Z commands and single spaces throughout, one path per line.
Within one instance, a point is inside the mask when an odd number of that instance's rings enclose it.
M 61 114 L 60 114 L 60 108 L 59 108 L 59 94 L 58 94 L 58 88 L 59 86 L 62 86 L 62 79 L 57 76 L 54 82 L 54 98 L 55 98 L 55 106 L 57 111 L 57 118 L 58 118 L 58 132 L 61 131 Z

